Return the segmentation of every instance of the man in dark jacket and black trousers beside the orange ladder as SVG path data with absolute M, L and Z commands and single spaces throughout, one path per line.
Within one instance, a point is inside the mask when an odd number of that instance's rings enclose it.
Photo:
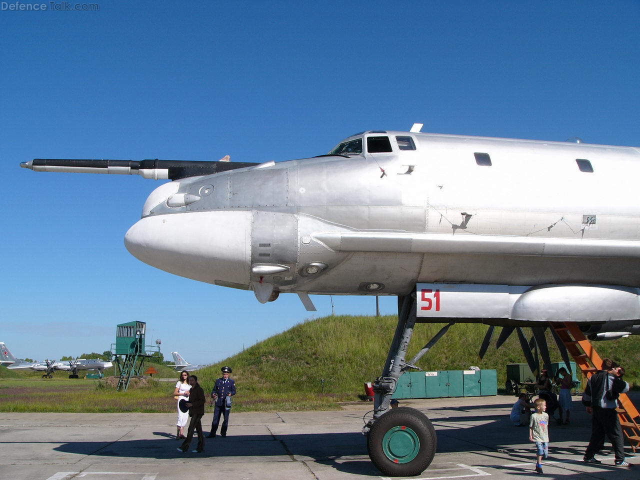
M 629 384 L 620 378 L 621 367 L 611 358 L 602 360 L 602 370 L 593 374 L 584 388 L 582 403 L 591 413 L 591 440 L 584 452 L 587 463 L 602 463 L 596 460 L 595 453 L 604 447 L 605 435 L 613 447 L 616 467 L 630 467 L 625 461 L 625 450 L 618 419 L 618 395 L 629 391 Z

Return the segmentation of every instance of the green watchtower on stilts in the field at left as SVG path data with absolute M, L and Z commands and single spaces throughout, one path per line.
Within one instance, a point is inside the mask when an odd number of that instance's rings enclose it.
M 116 325 L 116 342 L 111 344 L 111 353 L 120 371 L 116 390 L 127 390 L 131 377 L 143 371 L 145 359 L 160 351 L 159 346 L 145 345 L 146 329 L 147 323 L 138 321 Z

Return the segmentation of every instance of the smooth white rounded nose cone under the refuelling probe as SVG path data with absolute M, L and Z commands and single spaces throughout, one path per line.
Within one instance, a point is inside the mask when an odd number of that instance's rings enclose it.
M 147 216 L 124 237 L 138 260 L 213 284 L 249 284 L 251 212 L 207 211 Z

